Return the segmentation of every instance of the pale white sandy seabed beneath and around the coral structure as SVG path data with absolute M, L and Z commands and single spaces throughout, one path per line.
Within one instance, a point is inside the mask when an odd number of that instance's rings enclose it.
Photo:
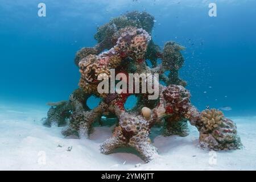
M 96 127 L 89 140 L 64 138 L 61 127 L 42 125 L 46 108 L 11 108 L 0 105 L 1 170 L 256 170 L 256 117 L 231 117 L 242 150 L 201 150 L 199 133 L 189 126 L 188 137 L 155 137 L 160 155 L 146 164 L 135 154 L 100 153 L 100 144 L 112 135 L 110 127 Z

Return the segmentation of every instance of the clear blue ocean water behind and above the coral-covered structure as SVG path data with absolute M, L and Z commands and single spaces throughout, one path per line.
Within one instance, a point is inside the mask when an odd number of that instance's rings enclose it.
M 40 2 L 46 17 L 38 16 Z M 210 2 L 217 17 L 208 15 Z M 96 44 L 98 26 L 133 10 L 155 16 L 155 43 L 174 40 L 186 47 L 180 74 L 194 105 L 232 107 L 226 115 L 256 114 L 253 0 L 0 0 L 1 104 L 67 100 L 80 77 L 76 51 Z

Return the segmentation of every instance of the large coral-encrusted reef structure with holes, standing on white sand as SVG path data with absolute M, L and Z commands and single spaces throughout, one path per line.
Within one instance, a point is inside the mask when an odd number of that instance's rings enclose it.
M 189 122 L 200 133 L 201 148 L 240 148 L 242 144 L 233 121 L 225 118 L 222 112 L 216 109 L 206 109 L 200 113 L 191 104 L 191 94 L 184 88 L 187 83 L 181 80 L 178 74 L 184 63 L 181 55 L 184 47 L 175 42 L 167 42 L 163 50 L 160 50 L 150 36 L 153 26 L 152 15 L 133 11 L 99 27 L 94 35 L 98 44 L 82 48 L 76 53 L 75 64 L 81 73 L 80 88 L 69 96 L 68 101 L 49 104 L 51 108 L 45 125 L 66 125 L 63 135 L 88 138 L 93 123 L 102 122 L 102 117 L 106 118 L 103 122 L 116 118 L 113 135 L 101 144 L 100 151 L 102 154 L 110 154 L 118 147 L 133 147 L 145 162 L 150 162 L 158 155 L 158 149 L 152 145 L 150 139 L 153 126 L 162 127 L 162 134 L 165 136 L 184 137 L 188 135 Z M 162 60 L 161 64 L 158 64 L 158 59 Z M 150 61 L 151 66 L 146 60 Z M 114 73 L 111 72 L 112 69 Z M 170 73 L 167 75 L 166 71 Z M 118 76 L 119 73 L 122 73 L 121 76 Z M 147 83 L 150 86 L 144 92 L 135 92 L 137 87 L 143 89 L 143 79 L 137 86 L 124 86 L 124 82 L 136 80 L 129 77 L 129 74 L 136 73 L 150 76 L 156 85 L 152 86 L 152 81 Z M 159 82 L 163 84 L 158 82 L 158 75 Z M 114 80 L 123 81 L 119 84 L 122 92 L 117 92 L 115 87 L 118 83 L 115 85 L 115 81 L 111 81 L 113 77 Z M 107 86 L 111 84 L 114 84 L 114 87 Z M 99 89 L 103 91 L 99 92 Z M 154 92 L 157 97 L 150 99 L 148 96 Z M 133 109 L 126 110 L 125 102 L 131 95 L 137 97 L 137 104 Z M 90 96 L 101 98 L 100 104 L 94 109 L 89 109 L 86 105 Z

